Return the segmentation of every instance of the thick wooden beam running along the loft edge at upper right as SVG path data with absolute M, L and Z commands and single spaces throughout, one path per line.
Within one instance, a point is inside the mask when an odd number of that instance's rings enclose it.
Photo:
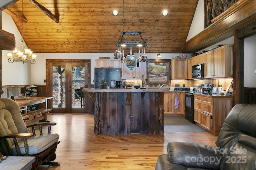
M 247 0 L 242 3 L 235 12 L 230 12 L 229 16 L 220 18 L 188 40 L 183 47 L 183 53 L 194 53 L 204 48 L 210 47 L 220 41 L 234 36 L 234 31 L 254 20 L 256 20 L 256 0 Z

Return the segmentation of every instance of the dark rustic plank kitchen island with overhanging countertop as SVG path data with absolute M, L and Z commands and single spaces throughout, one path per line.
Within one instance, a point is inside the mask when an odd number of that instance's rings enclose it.
M 164 134 L 168 89 L 82 89 L 94 100 L 94 134 Z

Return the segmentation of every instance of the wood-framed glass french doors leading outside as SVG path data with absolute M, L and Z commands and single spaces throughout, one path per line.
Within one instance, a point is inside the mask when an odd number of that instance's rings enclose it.
M 89 113 L 90 60 L 46 60 L 46 91 L 52 113 Z

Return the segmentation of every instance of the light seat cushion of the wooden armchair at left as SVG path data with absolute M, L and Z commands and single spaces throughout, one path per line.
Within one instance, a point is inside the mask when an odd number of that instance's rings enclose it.
M 28 139 L 28 154 L 38 154 L 50 146 L 52 146 L 54 143 L 56 143 L 59 139 L 58 134 L 50 134 L 50 135 L 43 135 L 43 136 L 35 136 Z M 21 155 L 26 155 L 25 149 L 24 149 L 24 142 L 19 142 L 20 152 Z M 13 145 L 11 147 L 13 155 L 17 156 L 17 152 L 15 149 L 15 146 Z

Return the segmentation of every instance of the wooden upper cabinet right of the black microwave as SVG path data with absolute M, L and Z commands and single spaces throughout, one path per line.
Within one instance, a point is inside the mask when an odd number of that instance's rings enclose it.
M 233 45 L 223 45 L 204 53 L 204 78 L 233 76 Z

